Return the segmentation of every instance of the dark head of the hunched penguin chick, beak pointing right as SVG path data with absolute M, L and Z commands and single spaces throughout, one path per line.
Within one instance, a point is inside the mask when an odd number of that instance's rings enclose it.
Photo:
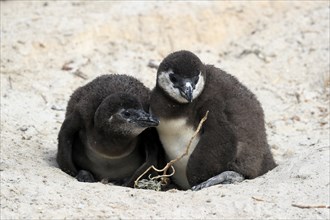
M 159 121 L 143 109 L 136 97 L 117 93 L 102 101 L 95 112 L 94 124 L 105 134 L 137 136 L 146 128 L 157 126 Z

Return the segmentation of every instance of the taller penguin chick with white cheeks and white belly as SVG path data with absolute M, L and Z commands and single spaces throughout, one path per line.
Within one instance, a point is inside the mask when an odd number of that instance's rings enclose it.
M 157 131 L 169 160 L 185 152 L 209 110 L 188 155 L 174 164 L 173 181 L 182 189 L 255 178 L 276 166 L 255 95 L 195 54 L 178 51 L 161 62 L 150 103 L 159 117 Z

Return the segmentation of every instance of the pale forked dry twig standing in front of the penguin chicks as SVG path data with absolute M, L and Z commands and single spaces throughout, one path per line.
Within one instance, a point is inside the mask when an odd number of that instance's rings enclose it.
M 153 165 L 150 166 L 146 171 L 144 171 L 144 172 L 143 172 L 143 173 L 142 173 L 142 174 L 141 174 L 141 175 L 140 175 L 140 176 L 134 181 L 134 188 L 139 188 L 139 187 L 138 187 L 138 183 L 139 183 L 140 179 L 142 178 L 142 176 L 144 176 L 146 173 L 148 173 L 151 169 L 153 169 L 154 171 L 156 171 L 156 172 L 158 172 L 158 173 L 163 172 L 163 174 L 158 175 L 158 176 L 155 176 L 155 177 L 152 177 L 152 178 L 149 176 L 149 179 L 150 179 L 151 181 L 156 181 L 156 180 L 160 179 L 160 180 L 161 180 L 161 183 L 163 183 L 163 184 L 166 184 L 166 183 L 167 183 L 167 178 L 173 176 L 174 173 L 175 173 L 175 169 L 174 169 L 174 167 L 173 167 L 173 164 L 174 164 L 175 162 L 177 162 L 178 160 L 182 159 L 184 156 L 188 155 L 188 152 L 189 152 L 190 146 L 191 146 L 193 140 L 196 138 L 197 134 L 199 133 L 200 129 L 202 128 L 203 123 L 206 121 L 208 113 L 209 113 L 209 111 L 207 111 L 207 112 L 205 113 L 205 116 L 200 120 L 200 122 L 199 122 L 199 124 L 198 124 L 198 127 L 197 127 L 195 133 L 194 133 L 194 134 L 192 135 L 192 137 L 190 138 L 190 141 L 189 141 L 189 143 L 188 143 L 188 145 L 187 145 L 187 147 L 186 147 L 186 151 L 185 151 L 180 157 L 177 157 L 177 158 L 171 160 L 170 162 L 168 162 L 168 163 L 166 164 L 166 166 L 165 166 L 163 169 L 160 169 L 160 170 L 159 170 L 159 169 L 157 169 L 157 168 L 156 168 L 155 166 L 153 166 Z M 168 171 L 169 168 L 172 169 L 172 173 L 171 173 L 171 174 L 167 174 L 167 171 Z

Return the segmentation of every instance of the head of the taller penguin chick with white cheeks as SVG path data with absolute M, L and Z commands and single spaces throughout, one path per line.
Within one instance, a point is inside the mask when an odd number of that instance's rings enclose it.
M 203 91 L 205 66 L 192 52 L 177 51 L 159 65 L 157 86 L 179 103 L 190 103 Z

